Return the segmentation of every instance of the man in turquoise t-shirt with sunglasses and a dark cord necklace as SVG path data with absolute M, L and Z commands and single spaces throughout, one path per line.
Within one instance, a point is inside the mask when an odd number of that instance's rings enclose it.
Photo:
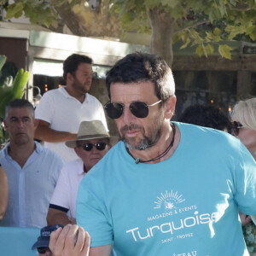
M 160 57 L 127 55 L 106 82 L 122 142 L 79 186 L 90 256 L 248 255 L 238 215 L 256 214 L 247 149 L 222 131 L 170 123 L 175 85 Z

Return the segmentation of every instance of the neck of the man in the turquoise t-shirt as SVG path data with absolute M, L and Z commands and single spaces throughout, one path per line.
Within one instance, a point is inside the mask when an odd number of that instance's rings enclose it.
M 180 133 L 176 126 L 176 133 L 173 133 L 172 126 L 168 123 L 162 131 L 159 141 L 150 148 L 144 150 L 129 149 L 128 152 L 138 162 L 158 163 L 166 160 L 175 151 L 179 143 Z M 174 135 L 174 136 L 173 136 Z

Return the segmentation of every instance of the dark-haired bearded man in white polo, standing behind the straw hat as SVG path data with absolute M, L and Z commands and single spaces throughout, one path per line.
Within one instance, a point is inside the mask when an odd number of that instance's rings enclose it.
M 70 55 L 63 63 L 63 77 L 67 86 L 44 93 L 36 108 L 39 123 L 35 137 L 68 161 L 78 156 L 73 148 L 67 148 L 65 142 L 76 139 L 82 121 L 98 119 L 107 130 L 108 127 L 102 103 L 88 93 L 92 60 L 85 55 Z

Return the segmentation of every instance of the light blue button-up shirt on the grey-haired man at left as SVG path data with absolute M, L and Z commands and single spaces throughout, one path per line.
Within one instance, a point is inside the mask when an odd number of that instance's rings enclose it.
M 8 154 L 9 143 L 0 151 L 0 163 L 9 183 L 9 203 L 1 226 L 47 225 L 49 200 L 54 192 L 63 160 L 35 142 L 36 148 L 21 168 Z

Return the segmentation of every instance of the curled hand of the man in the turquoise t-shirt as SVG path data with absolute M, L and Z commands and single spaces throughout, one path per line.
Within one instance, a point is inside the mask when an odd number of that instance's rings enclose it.
M 67 224 L 63 230 L 59 228 L 51 233 L 49 249 L 54 256 L 88 256 L 90 235 L 78 225 Z

